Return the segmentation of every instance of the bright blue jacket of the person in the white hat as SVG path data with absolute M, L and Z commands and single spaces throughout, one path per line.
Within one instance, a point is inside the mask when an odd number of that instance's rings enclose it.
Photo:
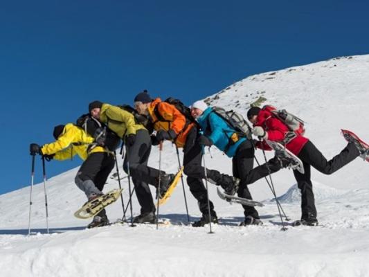
M 234 157 L 238 146 L 246 141 L 245 138 L 240 138 L 236 143 L 231 142 L 230 138 L 235 130 L 226 123 L 226 121 L 212 112 L 212 108 L 208 107 L 201 116 L 197 118 L 201 130 L 214 145 L 226 153 L 228 157 Z M 210 125 L 210 127 L 208 126 Z M 228 144 L 231 142 L 231 145 Z M 228 150 L 226 149 L 228 147 Z

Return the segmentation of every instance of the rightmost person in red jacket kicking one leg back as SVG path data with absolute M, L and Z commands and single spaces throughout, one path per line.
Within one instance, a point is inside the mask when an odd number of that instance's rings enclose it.
M 292 133 L 291 136 L 291 131 L 287 125 L 276 118 L 271 111 L 260 109 L 260 107 L 251 107 L 247 112 L 247 118 L 253 123 L 253 134 L 260 139 L 260 141 L 255 144 L 257 148 L 271 150 L 267 143 L 262 140 L 268 139 L 269 141 L 278 141 L 285 145 L 289 151 L 294 153 L 303 162 L 304 174 L 294 170 L 294 176 L 298 188 L 301 191 L 302 211 L 301 220 L 294 222 L 294 224 L 309 226 L 318 225 L 313 185 L 310 179 L 310 166 L 325 175 L 331 175 L 367 150 L 360 147 L 359 143 L 348 143 L 339 154 L 330 161 L 327 161 L 323 154 L 311 141 L 309 141 L 309 139 L 305 138 L 305 136 L 294 133 Z

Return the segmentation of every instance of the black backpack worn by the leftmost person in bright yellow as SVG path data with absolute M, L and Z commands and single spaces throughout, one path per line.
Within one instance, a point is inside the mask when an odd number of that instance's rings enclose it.
M 75 125 L 84 129 L 84 132 L 95 139 L 97 145 L 105 146 L 108 150 L 114 151 L 120 143 L 119 136 L 107 128 L 99 120 L 90 116 L 90 114 L 82 114 Z

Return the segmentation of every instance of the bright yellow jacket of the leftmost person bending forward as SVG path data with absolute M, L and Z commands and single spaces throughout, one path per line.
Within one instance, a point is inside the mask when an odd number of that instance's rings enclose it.
M 55 154 L 54 159 L 59 161 L 71 159 L 75 154 L 85 160 L 91 153 L 106 152 L 101 146 L 96 146 L 87 152 L 87 147 L 91 143 L 93 143 L 92 136 L 84 132 L 82 128 L 68 123 L 57 141 L 43 145 L 41 151 L 42 154 Z

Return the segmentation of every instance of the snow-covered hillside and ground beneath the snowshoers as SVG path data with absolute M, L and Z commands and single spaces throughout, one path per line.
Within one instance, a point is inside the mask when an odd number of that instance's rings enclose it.
M 307 137 L 330 159 L 345 146 L 341 128 L 369 141 L 369 55 L 252 75 L 206 100 L 242 114 L 255 101 L 288 109 L 307 122 Z M 162 168 L 175 172 L 177 157 L 170 143 L 165 143 L 163 156 Z M 264 162 L 261 153 L 256 158 Z M 158 161 L 154 148 L 150 164 L 158 167 Z M 231 173 L 231 160 L 213 148 L 206 164 Z M 280 231 L 276 204 L 264 180 L 250 186 L 254 199 L 265 204 L 258 208 L 263 226 L 237 226 L 242 208 L 223 202 L 210 184 L 210 199 L 221 218 L 214 234 L 208 234 L 208 227 L 187 226 L 181 185 L 160 209 L 172 226 L 158 231 L 127 224 L 86 230 L 89 221 L 73 217 L 85 201 L 73 183 L 76 172 L 47 181 L 51 234 L 44 230 L 43 184 L 33 191 L 35 235 L 26 235 L 30 188 L 0 195 L 1 276 L 369 276 L 369 164 L 359 158 L 334 175 L 312 170 L 321 226 L 288 226 L 285 232 Z M 281 170 L 273 182 L 287 215 L 298 219 L 300 195 L 292 172 Z M 126 204 L 127 179 L 122 185 Z M 117 187 L 109 178 L 105 190 Z M 197 203 L 186 184 L 185 189 L 190 219 L 197 220 Z M 121 203 L 109 206 L 107 213 L 113 221 L 122 217 Z M 138 213 L 134 197 L 134 215 Z

